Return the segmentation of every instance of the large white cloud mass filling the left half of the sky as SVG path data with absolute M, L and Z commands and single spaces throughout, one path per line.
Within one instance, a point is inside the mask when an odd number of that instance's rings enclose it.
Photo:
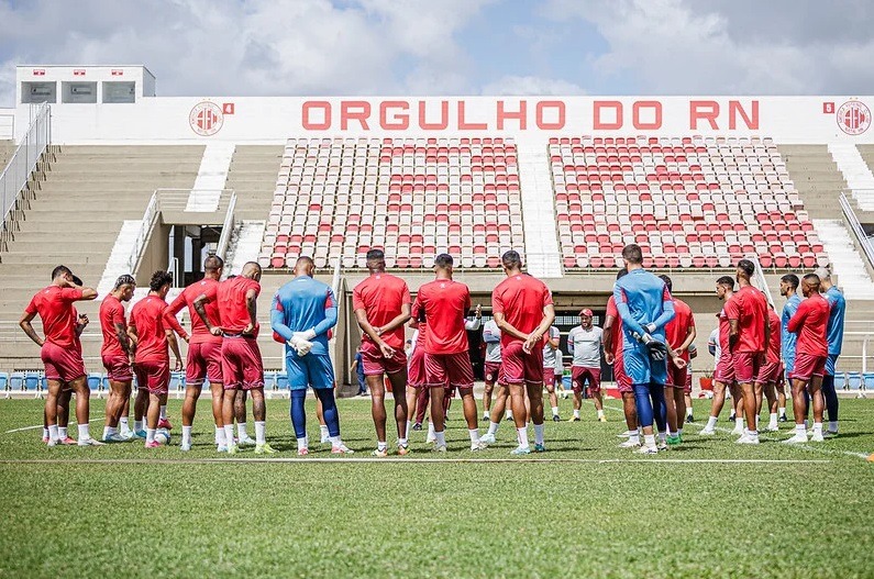
M 455 34 L 484 3 L 0 3 L 0 105 L 14 94 L 9 71 L 30 63 L 145 64 L 163 96 L 469 91 Z

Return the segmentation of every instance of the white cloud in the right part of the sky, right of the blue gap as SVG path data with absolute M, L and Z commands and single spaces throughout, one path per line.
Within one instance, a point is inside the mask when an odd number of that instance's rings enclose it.
M 594 23 L 608 49 L 594 59 L 606 77 L 627 76 L 641 92 L 666 94 L 816 94 L 870 92 L 874 70 L 849 63 L 867 59 L 874 42 L 830 37 L 811 42 L 797 18 L 782 26 L 778 11 L 760 27 L 770 34 L 743 35 L 732 19 L 753 18 L 682 0 L 600 0 L 585 4 L 553 0 L 546 13 Z M 729 7 L 728 9 L 724 7 Z M 794 3 L 799 11 L 809 2 Z M 755 10 L 755 7 L 748 7 Z M 815 15 L 808 15 L 815 18 Z M 809 26 L 810 23 L 807 22 Z

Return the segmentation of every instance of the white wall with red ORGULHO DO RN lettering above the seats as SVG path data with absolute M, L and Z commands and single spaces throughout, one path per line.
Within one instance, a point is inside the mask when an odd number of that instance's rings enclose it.
M 620 107 L 622 115 L 617 119 Z M 53 140 L 60 144 L 284 143 L 288 137 L 301 136 L 457 135 L 506 135 L 542 142 L 549 136 L 598 134 L 757 135 L 781 143 L 872 143 L 874 129 L 870 129 L 870 111 L 873 108 L 874 97 L 855 100 L 839 96 L 156 97 L 143 98 L 135 104 L 55 104 L 52 116 Z M 328 110 L 330 121 L 324 114 Z M 522 110 L 523 115 L 515 114 Z M 424 111 L 423 122 L 420 122 L 420 111 Z M 715 114 L 712 126 L 706 119 L 708 111 Z M 26 120 L 21 122 L 26 114 L 26 105 L 20 105 L 16 131 L 26 126 Z M 847 119 L 856 122 L 859 134 L 851 135 L 841 129 L 839 121 Z M 198 127 L 198 123 L 201 126 Z M 196 127 L 202 134 L 198 134 Z

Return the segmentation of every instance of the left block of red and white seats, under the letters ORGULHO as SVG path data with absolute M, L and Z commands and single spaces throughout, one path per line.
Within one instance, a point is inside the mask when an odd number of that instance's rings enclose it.
M 497 267 L 524 246 L 512 140 L 289 140 L 276 181 L 261 264 L 301 254 L 346 268 L 383 247 L 390 267 L 429 267 L 447 250 L 461 267 Z

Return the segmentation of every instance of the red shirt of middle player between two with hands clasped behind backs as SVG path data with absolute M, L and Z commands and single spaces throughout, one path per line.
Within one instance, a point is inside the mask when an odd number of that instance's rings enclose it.
M 471 290 L 451 279 L 435 279 L 419 288 L 413 316 L 424 312 L 424 350 L 427 354 L 467 352 L 465 316 L 471 309 Z M 419 332 L 422 332 L 420 326 Z

